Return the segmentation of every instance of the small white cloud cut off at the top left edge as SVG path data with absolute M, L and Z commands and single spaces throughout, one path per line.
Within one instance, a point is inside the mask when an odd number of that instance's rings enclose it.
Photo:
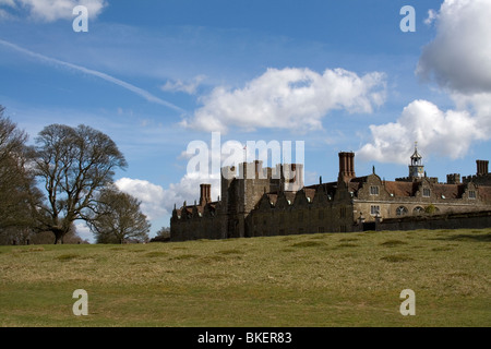
M 73 20 L 73 8 L 76 5 L 86 7 L 91 19 L 95 19 L 103 12 L 107 2 L 106 0 L 0 0 L 0 7 L 26 10 L 29 17 L 41 22 Z

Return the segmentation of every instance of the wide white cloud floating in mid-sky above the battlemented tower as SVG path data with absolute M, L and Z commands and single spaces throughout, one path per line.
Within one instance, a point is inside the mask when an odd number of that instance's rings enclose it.
M 203 131 L 227 132 L 231 125 L 313 130 L 330 111 L 370 113 L 384 103 L 385 76 L 358 76 L 343 69 L 319 74 L 310 69 L 268 69 L 243 88 L 216 87 L 202 97 L 203 107 L 182 124 Z

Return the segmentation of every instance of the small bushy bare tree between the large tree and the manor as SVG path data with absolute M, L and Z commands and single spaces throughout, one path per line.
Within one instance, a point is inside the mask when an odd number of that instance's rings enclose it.
M 97 207 L 87 220 L 98 243 L 123 243 L 128 240 L 146 241 L 151 225 L 140 209 L 141 202 L 117 188 L 104 189 Z

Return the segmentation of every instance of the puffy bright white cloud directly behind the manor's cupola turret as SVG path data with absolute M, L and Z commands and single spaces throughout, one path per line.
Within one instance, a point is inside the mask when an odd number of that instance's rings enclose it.
M 456 159 L 466 155 L 472 141 L 490 137 L 480 118 L 466 110 L 442 111 L 427 100 L 412 101 L 396 122 L 371 125 L 370 130 L 372 142 L 363 145 L 357 155 L 381 163 L 407 164 L 415 142 L 427 156 Z

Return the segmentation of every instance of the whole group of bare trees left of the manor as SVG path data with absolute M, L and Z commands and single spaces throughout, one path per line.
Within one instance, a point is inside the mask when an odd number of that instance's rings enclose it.
M 0 244 L 81 243 L 85 221 L 98 243 L 146 241 L 140 202 L 113 184 L 127 160 L 106 134 L 50 124 L 28 135 L 0 106 Z

